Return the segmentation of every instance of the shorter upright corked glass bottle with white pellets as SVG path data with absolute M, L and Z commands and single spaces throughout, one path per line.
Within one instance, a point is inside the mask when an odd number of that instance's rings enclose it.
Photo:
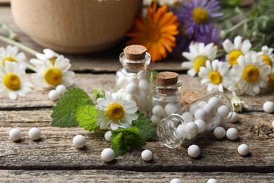
M 182 83 L 178 81 L 176 72 L 158 72 L 156 79 L 152 82 L 152 107 L 150 120 L 152 124 L 158 125 L 163 118 L 178 111 L 183 106 L 181 96 Z

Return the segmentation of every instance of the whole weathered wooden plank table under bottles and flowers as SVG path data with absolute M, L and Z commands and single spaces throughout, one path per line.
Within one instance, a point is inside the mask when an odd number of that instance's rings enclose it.
M 19 34 L 22 44 L 37 51 L 43 49 L 15 25 L 9 6 L 0 7 L 0 22 L 11 26 Z M 0 46 L 6 44 L 0 42 Z M 72 70 L 77 73 L 74 87 L 89 94 L 99 87 L 113 91 L 115 71 L 120 66 L 119 53 L 123 48 L 121 43 L 100 53 L 65 54 L 71 60 Z M 182 60 L 169 57 L 151 64 L 151 68 L 179 72 L 184 91 L 206 94 L 198 77 L 189 77 L 185 70 L 181 70 Z M 209 178 L 219 182 L 274 181 L 274 132 L 271 127 L 274 115 L 262 110 L 265 101 L 274 99 L 273 88 L 263 89 L 258 96 L 241 96 L 249 108 L 239 113 L 239 122 L 224 125 L 226 129 L 235 127 L 239 130 L 240 137 L 236 141 L 218 140 L 209 133 L 195 141 L 200 146 L 201 155 L 190 158 L 183 146 L 168 149 L 155 140 L 143 147 L 153 152 L 150 162 L 141 159 L 143 149 L 136 149 L 105 163 L 100 153 L 110 144 L 103 134 L 86 132 L 80 127 L 51 127 L 51 108 L 55 103 L 47 99 L 47 94 L 35 90 L 25 99 L 1 99 L 0 182 L 170 182 L 174 178 L 183 182 L 207 182 Z M 231 97 L 230 93 L 226 94 Z M 19 142 L 8 139 L 8 132 L 13 127 L 22 130 Z M 41 129 L 41 140 L 32 141 L 27 137 L 31 127 Z M 72 138 L 77 134 L 86 137 L 84 149 L 72 146 Z M 248 156 L 237 153 L 237 147 L 242 143 L 251 149 Z

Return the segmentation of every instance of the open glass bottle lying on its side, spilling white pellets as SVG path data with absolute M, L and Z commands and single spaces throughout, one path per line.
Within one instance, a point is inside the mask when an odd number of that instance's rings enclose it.
M 188 145 L 227 122 L 233 112 L 230 99 L 222 92 L 210 92 L 159 121 L 157 134 L 165 146 Z

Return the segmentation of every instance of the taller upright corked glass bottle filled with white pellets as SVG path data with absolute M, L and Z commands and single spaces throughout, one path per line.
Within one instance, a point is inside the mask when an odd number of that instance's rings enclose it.
M 145 46 L 126 46 L 119 56 L 122 68 L 116 72 L 115 90 L 126 92 L 127 100 L 136 101 L 138 110 L 148 115 L 152 75 L 148 65 L 150 54 Z

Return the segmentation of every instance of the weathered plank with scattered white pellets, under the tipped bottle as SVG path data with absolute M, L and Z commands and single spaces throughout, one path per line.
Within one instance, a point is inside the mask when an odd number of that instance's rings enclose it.
M 103 132 L 86 132 L 80 127 L 50 127 L 51 111 L 41 111 L 0 111 L 0 169 L 274 172 L 272 114 L 242 113 L 239 122 L 224 125 L 226 129 L 235 127 L 239 130 L 240 137 L 236 141 L 218 140 L 212 133 L 197 139 L 193 144 L 200 146 L 198 158 L 190 158 L 186 147 L 168 149 L 155 140 L 143 147 L 154 153 L 150 162 L 144 162 L 142 149 L 136 149 L 112 163 L 104 163 L 100 160 L 100 152 L 110 143 L 105 141 Z M 34 126 L 41 129 L 39 141 L 27 137 L 28 130 Z M 22 130 L 21 141 L 8 139 L 12 127 Z M 77 134 L 86 137 L 84 149 L 72 146 L 72 139 Z M 237 153 L 237 146 L 242 143 L 251 149 L 248 156 Z

